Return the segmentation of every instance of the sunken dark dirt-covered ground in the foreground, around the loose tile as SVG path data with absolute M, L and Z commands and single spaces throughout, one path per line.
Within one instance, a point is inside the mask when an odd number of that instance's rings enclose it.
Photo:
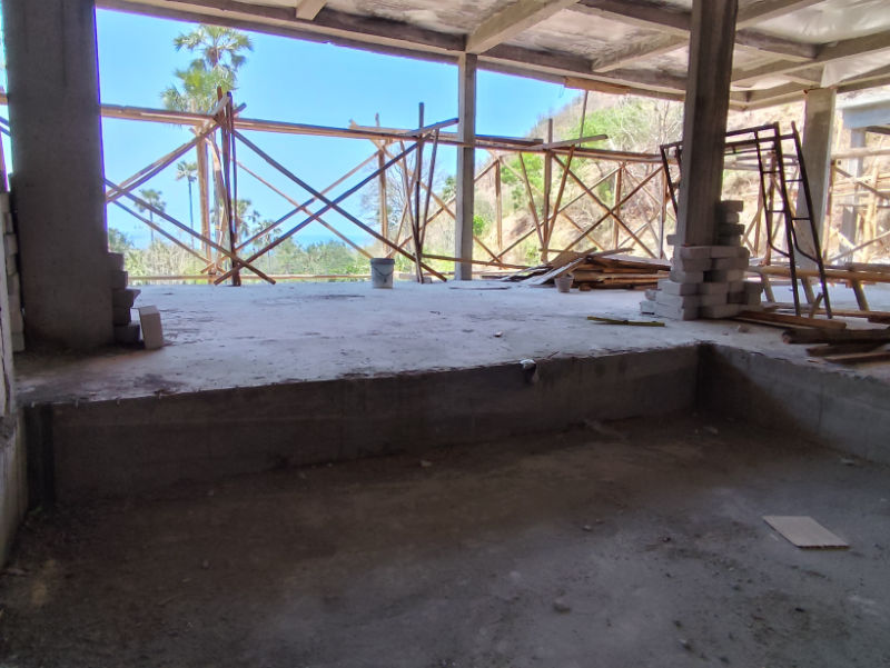
M 32 514 L 0 665 L 890 666 L 887 467 L 705 417 L 425 457 Z

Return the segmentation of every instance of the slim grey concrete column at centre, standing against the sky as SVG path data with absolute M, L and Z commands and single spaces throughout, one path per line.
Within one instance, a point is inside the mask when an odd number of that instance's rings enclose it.
M 473 213 L 476 188 L 476 56 L 463 53 L 457 63 L 457 136 L 465 146 L 457 149 L 457 219 L 454 255 L 473 259 Z M 472 280 L 473 265 L 455 262 L 455 280 Z

